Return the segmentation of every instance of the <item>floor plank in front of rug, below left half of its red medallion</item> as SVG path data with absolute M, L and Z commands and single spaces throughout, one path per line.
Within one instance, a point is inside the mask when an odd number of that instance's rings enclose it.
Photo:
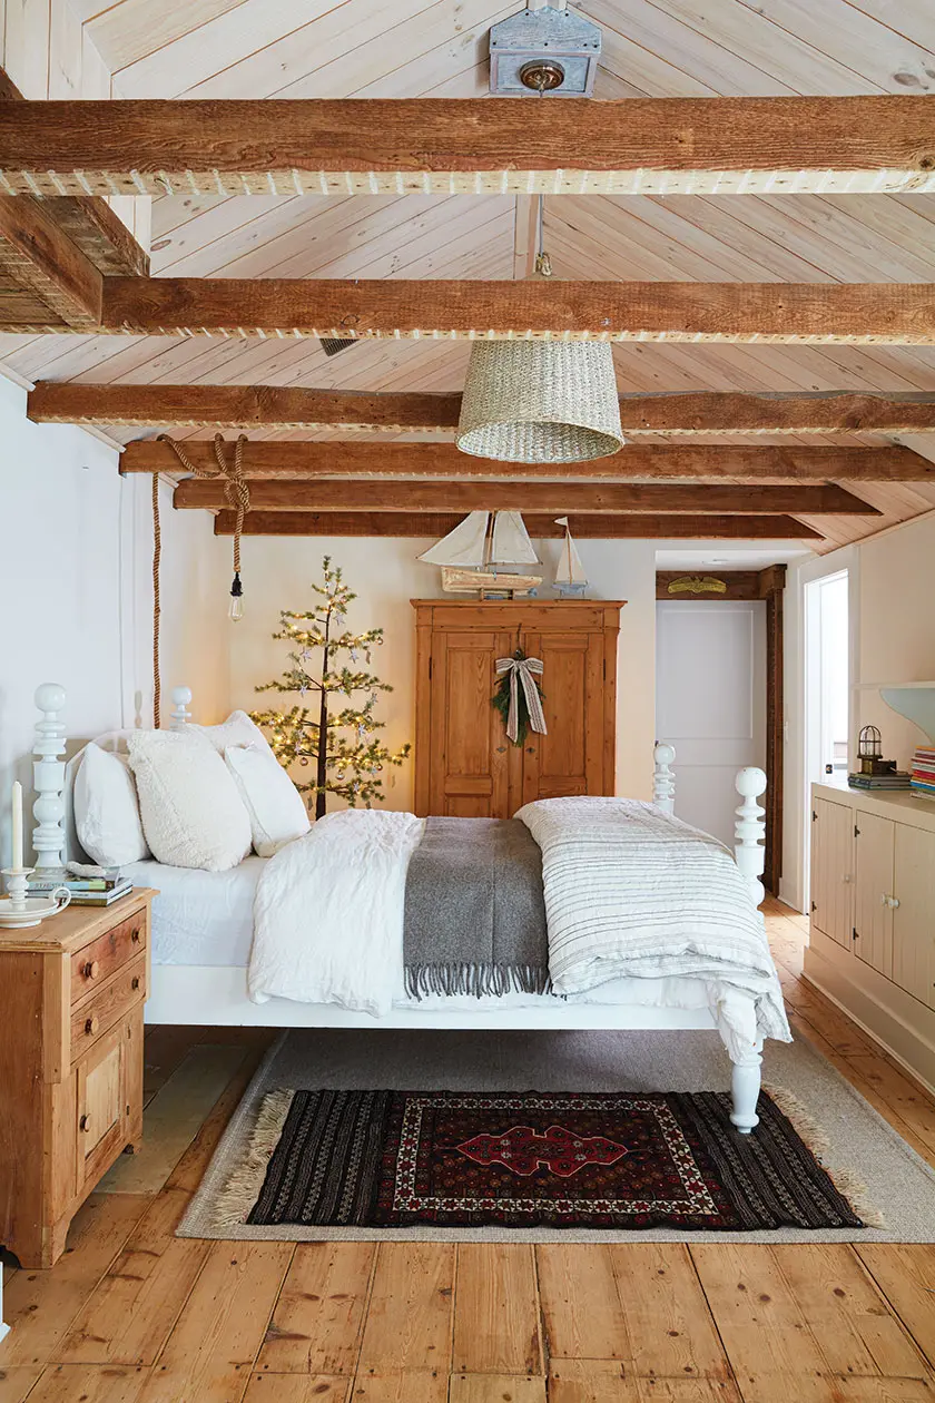
M 541 1374 L 531 1243 L 458 1243 L 453 1369 L 457 1374 Z

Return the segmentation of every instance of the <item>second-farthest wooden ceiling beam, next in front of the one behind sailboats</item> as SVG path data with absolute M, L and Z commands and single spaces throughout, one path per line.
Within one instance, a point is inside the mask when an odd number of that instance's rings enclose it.
M 716 515 L 819 516 L 824 513 L 879 516 L 841 487 L 683 487 L 617 483 L 383 483 L 353 478 L 318 478 L 287 483 L 254 483 L 251 509 L 285 512 L 472 512 L 519 511 L 540 513 L 587 512 L 712 512 Z M 224 484 L 216 478 L 189 477 L 175 488 L 175 506 L 221 511 L 227 506 Z

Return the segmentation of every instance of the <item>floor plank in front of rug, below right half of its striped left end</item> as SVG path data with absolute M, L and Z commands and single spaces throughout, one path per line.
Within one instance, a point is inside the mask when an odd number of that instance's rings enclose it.
M 371 1242 L 299 1243 L 257 1369 L 353 1376 L 374 1257 Z

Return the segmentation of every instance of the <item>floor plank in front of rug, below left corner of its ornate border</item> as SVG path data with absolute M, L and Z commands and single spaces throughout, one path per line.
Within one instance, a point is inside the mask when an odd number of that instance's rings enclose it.
M 381 1242 L 357 1381 L 367 1374 L 385 1382 L 397 1372 L 433 1369 L 446 1375 L 447 1389 L 453 1295 L 453 1243 Z

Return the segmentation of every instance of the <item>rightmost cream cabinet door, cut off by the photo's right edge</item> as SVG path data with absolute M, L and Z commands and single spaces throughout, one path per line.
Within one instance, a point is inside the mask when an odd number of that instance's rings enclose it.
M 893 982 L 935 1009 L 935 833 L 894 828 Z

